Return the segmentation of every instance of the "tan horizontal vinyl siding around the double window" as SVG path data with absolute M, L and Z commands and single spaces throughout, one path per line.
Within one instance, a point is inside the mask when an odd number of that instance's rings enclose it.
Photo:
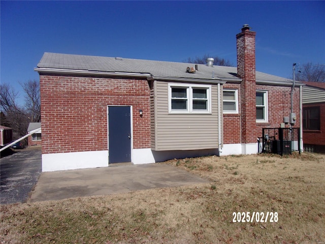
M 194 150 L 218 147 L 217 85 L 211 87 L 212 113 L 169 114 L 168 82 L 155 81 L 153 150 Z

